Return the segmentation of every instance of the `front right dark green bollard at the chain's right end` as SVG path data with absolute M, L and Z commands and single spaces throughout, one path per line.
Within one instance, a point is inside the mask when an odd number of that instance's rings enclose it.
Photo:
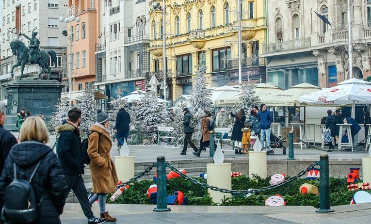
M 320 208 L 316 212 L 333 212 L 330 208 L 330 173 L 328 168 L 328 154 L 320 155 Z

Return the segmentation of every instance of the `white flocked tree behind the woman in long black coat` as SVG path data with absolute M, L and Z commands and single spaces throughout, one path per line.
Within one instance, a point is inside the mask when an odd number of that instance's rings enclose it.
M 261 101 L 259 96 L 255 96 L 254 89 L 254 84 L 241 84 L 241 96 L 239 97 L 240 101 L 233 107 L 235 112 L 239 112 L 240 109 L 244 109 L 245 113 L 248 114 L 254 106 L 260 107 Z

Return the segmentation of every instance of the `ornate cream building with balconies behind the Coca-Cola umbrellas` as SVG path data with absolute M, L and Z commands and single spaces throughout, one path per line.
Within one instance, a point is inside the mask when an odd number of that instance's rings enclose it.
M 269 1 L 267 10 L 268 41 L 261 55 L 267 59 L 267 82 L 288 89 L 302 82 L 332 87 L 349 79 L 346 1 Z M 352 1 L 351 11 L 353 77 L 365 79 L 370 76 L 371 0 Z

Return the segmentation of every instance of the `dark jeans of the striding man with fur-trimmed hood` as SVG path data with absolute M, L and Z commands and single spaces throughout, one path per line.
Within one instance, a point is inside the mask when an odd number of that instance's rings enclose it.
M 72 189 L 75 193 L 77 199 L 79 200 L 80 206 L 84 215 L 88 219 L 94 218 L 92 208 L 90 207 L 88 192 L 86 191 L 84 185 L 84 179 L 81 175 L 65 175 L 65 180 L 67 182 L 68 189 Z

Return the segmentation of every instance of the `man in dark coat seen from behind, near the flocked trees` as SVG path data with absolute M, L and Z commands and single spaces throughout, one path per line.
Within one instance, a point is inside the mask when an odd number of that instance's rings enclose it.
M 128 142 L 129 124 L 130 115 L 125 111 L 124 106 L 120 105 L 116 116 L 116 125 L 113 127 L 113 129 L 116 129 L 116 139 L 119 144 L 117 150 L 120 150 L 121 146 L 124 144 L 124 138 L 125 141 Z

